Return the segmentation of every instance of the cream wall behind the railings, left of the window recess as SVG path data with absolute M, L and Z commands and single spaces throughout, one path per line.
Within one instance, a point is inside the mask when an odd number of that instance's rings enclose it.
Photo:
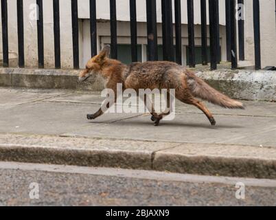
M 71 1 L 60 0 L 60 38 L 62 67 L 71 67 L 72 61 L 72 39 L 71 39 Z M 53 1 L 43 1 L 44 19 L 44 49 L 45 67 L 54 67 L 54 23 L 53 23 Z M 37 29 L 32 7 L 36 0 L 24 0 L 24 47 L 25 65 L 36 67 L 37 58 Z M 8 33 L 9 52 L 18 54 L 17 47 L 17 17 L 16 0 L 8 0 Z M 0 41 L 2 41 L 0 37 Z M 0 51 L 2 44 L 0 43 Z

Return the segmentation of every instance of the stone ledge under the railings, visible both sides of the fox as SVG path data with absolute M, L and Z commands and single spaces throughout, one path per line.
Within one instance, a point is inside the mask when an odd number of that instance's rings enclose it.
M 276 73 L 273 71 L 229 69 L 216 71 L 195 69 L 195 71 L 209 85 L 231 98 L 276 101 Z M 100 77 L 91 77 L 87 82 L 80 84 L 78 74 L 79 70 L 0 68 L 0 86 L 90 91 L 104 89 Z

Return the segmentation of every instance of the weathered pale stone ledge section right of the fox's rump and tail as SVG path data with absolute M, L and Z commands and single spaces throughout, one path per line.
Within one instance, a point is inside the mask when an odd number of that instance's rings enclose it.
M 197 75 L 231 98 L 276 101 L 275 71 L 220 69 Z

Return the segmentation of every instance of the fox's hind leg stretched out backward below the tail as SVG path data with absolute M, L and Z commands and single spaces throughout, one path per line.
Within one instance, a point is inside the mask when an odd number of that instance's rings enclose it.
M 216 120 L 214 119 L 214 116 L 211 114 L 211 112 L 207 109 L 207 107 L 205 107 L 205 105 L 202 102 L 196 100 L 196 98 L 194 98 L 192 94 L 189 94 L 189 92 L 186 92 L 186 93 L 183 92 L 181 93 L 180 96 L 176 95 L 176 98 L 186 104 L 192 104 L 198 109 L 200 109 L 201 111 L 203 111 L 203 113 L 205 113 L 205 115 L 209 119 L 209 122 L 211 123 L 211 125 L 216 125 Z

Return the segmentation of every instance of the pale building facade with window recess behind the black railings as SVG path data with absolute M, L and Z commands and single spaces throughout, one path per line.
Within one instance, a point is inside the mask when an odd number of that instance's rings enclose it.
M 97 2 L 97 49 L 111 43 L 109 24 L 109 0 Z M 130 12 L 129 0 L 117 0 L 117 42 L 118 58 L 124 63 L 130 63 Z M 172 1 L 174 2 L 174 1 Z M 253 1 L 245 2 L 245 55 L 246 61 L 254 63 L 253 43 Z M 226 31 L 225 31 L 225 1 L 220 3 L 220 50 L 221 59 L 226 61 Z M 36 30 L 36 1 L 24 0 L 24 46 L 25 66 L 37 67 L 37 30 Z M 172 7 L 174 9 L 174 5 Z M 261 11 L 261 48 L 262 67 L 276 65 L 276 25 L 275 25 L 275 0 L 262 0 Z M 44 50 L 45 67 L 54 67 L 54 21 L 52 1 L 43 1 L 44 19 Z M 187 64 L 187 1 L 181 1 L 182 12 L 182 50 L 183 65 Z M 174 12 L 172 13 L 174 14 Z M 207 11 L 208 14 L 208 11 Z M 79 18 L 79 45 L 80 45 L 80 67 L 91 57 L 90 53 L 90 28 L 89 28 L 89 0 L 78 1 Z M 8 34 L 10 65 L 17 65 L 18 39 L 16 22 L 16 0 L 8 0 Z M 173 18 L 174 20 L 174 18 Z M 137 42 L 139 61 L 147 60 L 147 28 L 146 28 L 146 0 L 137 1 Z M 159 59 L 162 59 L 162 27 L 161 27 L 161 0 L 157 0 L 157 35 L 159 47 Z M 195 45 L 196 63 L 201 62 L 200 58 L 200 0 L 194 0 L 194 23 L 195 23 Z M 209 20 L 207 19 L 207 25 Z M 1 29 L 0 29 L 1 30 Z M 209 30 L 209 28 L 208 28 Z M 62 68 L 73 67 L 73 43 L 71 29 L 71 1 L 60 0 L 60 43 Z M 1 38 L 1 36 L 0 36 Z M 209 35 L 208 35 L 209 44 Z M 2 45 L 0 45 L 0 53 Z

